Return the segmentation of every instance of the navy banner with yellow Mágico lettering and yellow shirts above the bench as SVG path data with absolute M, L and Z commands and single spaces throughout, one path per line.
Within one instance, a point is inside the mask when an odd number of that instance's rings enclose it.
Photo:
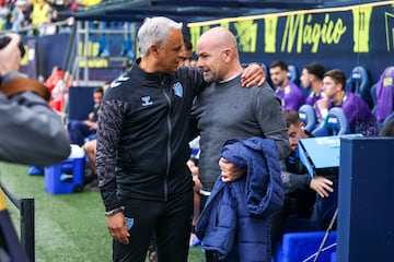
M 242 62 L 283 60 L 301 71 L 317 61 L 346 74 L 362 66 L 373 81 L 394 64 L 394 1 L 189 23 L 194 46 L 213 26 L 233 32 Z

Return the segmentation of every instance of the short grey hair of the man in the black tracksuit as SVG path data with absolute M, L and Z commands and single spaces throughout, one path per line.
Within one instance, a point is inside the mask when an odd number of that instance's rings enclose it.
M 171 29 L 181 29 L 182 23 L 177 23 L 164 16 L 147 17 L 137 34 L 137 45 L 140 56 L 148 55 L 149 46 L 157 44 L 163 47 Z

